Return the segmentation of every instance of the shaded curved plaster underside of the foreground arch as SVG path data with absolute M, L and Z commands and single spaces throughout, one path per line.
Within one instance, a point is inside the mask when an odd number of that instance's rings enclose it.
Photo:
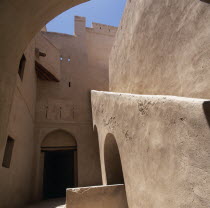
M 0 3 L 0 161 L 8 136 L 18 65 L 33 37 L 63 11 L 85 0 L 2 0 Z

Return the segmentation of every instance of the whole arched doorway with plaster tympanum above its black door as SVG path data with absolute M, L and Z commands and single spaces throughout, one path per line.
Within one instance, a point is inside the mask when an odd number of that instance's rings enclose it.
M 77 186 L 77 142 L 66 131 L 49 133 L 41 144 L 44 153 L 43 198 L 63 197 Z

